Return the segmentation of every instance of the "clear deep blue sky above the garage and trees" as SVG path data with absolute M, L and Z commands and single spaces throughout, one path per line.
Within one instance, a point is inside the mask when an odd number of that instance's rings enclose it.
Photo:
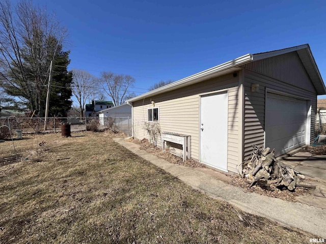
M 136 95 L 247 53 L 306 43 L 326 80 L 323 0 L 34 2 L 68 28 L 69 69 L 131 75 Z

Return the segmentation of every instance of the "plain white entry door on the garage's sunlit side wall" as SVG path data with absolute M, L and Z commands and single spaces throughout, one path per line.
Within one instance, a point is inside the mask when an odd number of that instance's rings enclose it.
M 228 94 L 201 96 L 200 161 L 227 171 Z

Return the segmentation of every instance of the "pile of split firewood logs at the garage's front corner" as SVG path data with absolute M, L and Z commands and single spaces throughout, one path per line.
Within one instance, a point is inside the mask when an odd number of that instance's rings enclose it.
M 275 149 L 270 151 L 269 147 L 265 149 L 256 145 L 253 147 L 253 156 L 242 170 L 243 177 L 251 181 L 249 188 L 254 185 L 269 191 L 276 189 L 293 191 L 296 187 L 316 188 L 312 184 L 303 182 L 305 175 L 276 160 Z

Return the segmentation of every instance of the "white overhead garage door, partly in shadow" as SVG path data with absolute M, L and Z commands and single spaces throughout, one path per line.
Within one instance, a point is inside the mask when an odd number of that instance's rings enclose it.
M 267 93 L 265 146 L 275 156 L 306 144 L 307 101 Z

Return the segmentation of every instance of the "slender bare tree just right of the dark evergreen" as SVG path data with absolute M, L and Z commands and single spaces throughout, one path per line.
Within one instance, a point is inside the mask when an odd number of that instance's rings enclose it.
M 78 111 L 82 119 L 85 104 L 98 96 L 98 79 L 85 70 L 72 70 L 72 93 L 78 102 Z

